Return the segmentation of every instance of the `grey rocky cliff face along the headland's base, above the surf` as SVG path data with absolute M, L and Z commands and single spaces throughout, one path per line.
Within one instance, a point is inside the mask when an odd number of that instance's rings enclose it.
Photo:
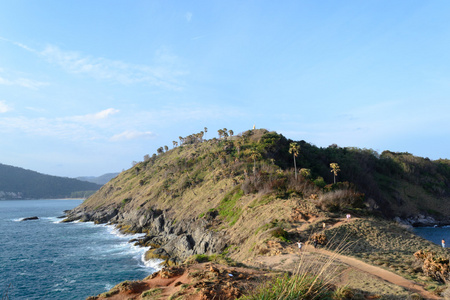
M 222 232 L 208 229 L 208 218 L 177 220 L 162 210 L 104 209 L 91 211 L 77 207 L 67 212 L 63 222 L 94 222 L 115 225 L 122 233 L 146 233 L 131 240 L 135 245 L 151 247 L 146 260 L 163 259 L 166 265 L 183 262 L 195 254 L 221 253 L 227 247 L 227 237 Z

